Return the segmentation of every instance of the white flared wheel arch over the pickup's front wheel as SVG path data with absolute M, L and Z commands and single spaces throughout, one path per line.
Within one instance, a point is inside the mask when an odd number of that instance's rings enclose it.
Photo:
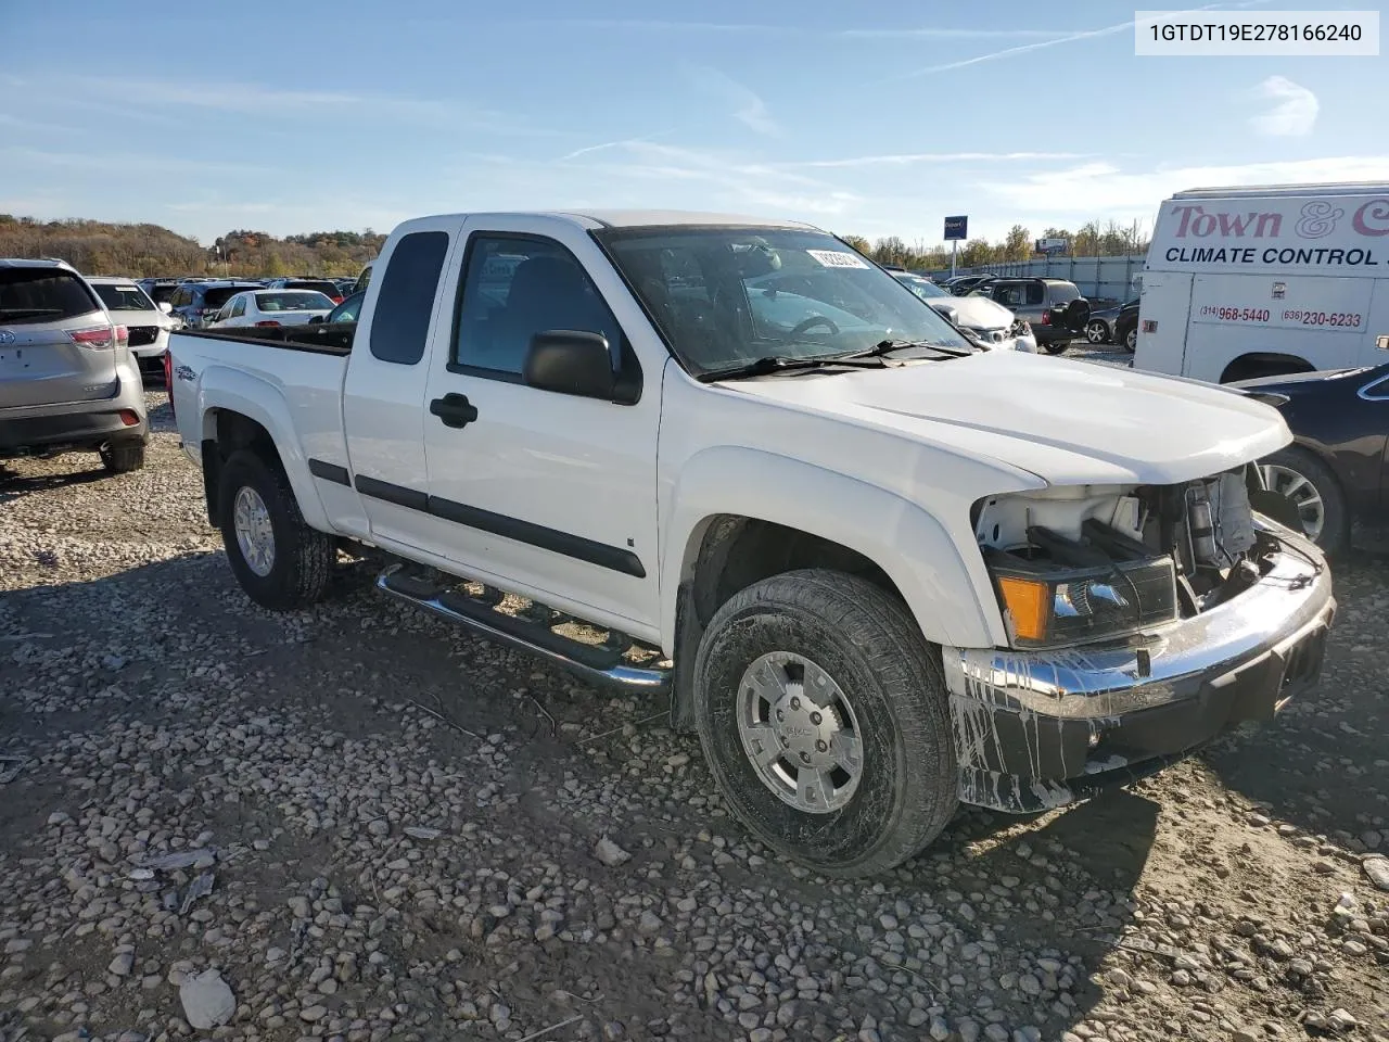
M 754 449 L 717 447 L 693 456 L 672 492 L 661 560 L 661 638 L 675 646 L 675 600 L 699 557 L 708 521 L 718 514 L 796 528 L 847 546 L 893 581 L 928 640 L 956 647 L 1006 643 L 983 561 L 971 575 L 957 540 L 918 504 L 875 485 Z M 974 546 L 968 520 L 963 536 Z

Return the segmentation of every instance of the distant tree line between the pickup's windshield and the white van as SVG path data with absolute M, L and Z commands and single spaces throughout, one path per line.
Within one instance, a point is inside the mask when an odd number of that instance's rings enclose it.
M 879 264 L 896 264 L 917 271 L 940 271 L 950 267 L 949 246 L 926 246 L 921 240 L 915 246 L 907 246 L 896 235 L 885 236 L 872 243 L 861 235 L 843 235 L 840 238 Z M 1038 256 L 1036 239 L 1068 239 L 1071 242 L 1070 256 L 1072 257 L 1136 256 L 1146 253 L 1149 243 L 1149 238 L 1138 221 L 1131 225 L 1108 221 L 1103 226 L 1099 221 L 1089 221 L 1075 232 L 1065 228 L 1047 228 L 1039 236 L 1033 236 L 1024 225 L 1015 224 L 1000 242 L 970 239 L 960 243 L 956 264 L 961 268 L 978 268 L 985 264 L 1032 260 Z

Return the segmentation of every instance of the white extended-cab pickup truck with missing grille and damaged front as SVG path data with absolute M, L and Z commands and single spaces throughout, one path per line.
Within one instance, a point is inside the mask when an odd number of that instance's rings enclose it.
M 253 600 L 382 556 L 389 595 L 668 697 L 829 875 L 1271 717 L 1335 611 L 1250 465 L 1275 410 L 975 350 L 807 225 L 414 220 L 358 324 L 176 332 L 169 368 Z

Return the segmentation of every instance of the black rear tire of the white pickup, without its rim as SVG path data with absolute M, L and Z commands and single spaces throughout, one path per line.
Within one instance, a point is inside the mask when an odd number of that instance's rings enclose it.
M 236 540 L 236 496 L 249 488 L 269 514 L 274 559 L 267 575 L 257 575 Z M 257 604 L 275 611 L 307 607 L 322 599 L 332 577 L 338 550 L 333 538 L 304 522 L 299 500 L 278 461 L 271 464 L 253 452 L 236 452 L 222 465 L 218 489 L 218 528 L 236 581 Z

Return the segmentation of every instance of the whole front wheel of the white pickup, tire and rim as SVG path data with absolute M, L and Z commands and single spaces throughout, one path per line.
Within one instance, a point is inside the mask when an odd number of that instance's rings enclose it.
M 694 716 L 738 818 L 825 875 L 900 864 L 957 806 L 939 650 L 865 579 L 807 570 L 736 593 L 700 642 Z

